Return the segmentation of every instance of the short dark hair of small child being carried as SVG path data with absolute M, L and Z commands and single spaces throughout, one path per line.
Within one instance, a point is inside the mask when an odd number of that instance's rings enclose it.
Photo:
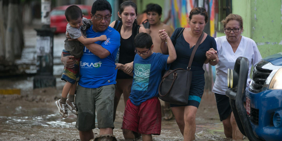
M 71 5 L 66 9 L 65 16 L 66 16 L 67 21 L 77 20 L 79 18 L 82 18 L 82 11 L 78 6 Z

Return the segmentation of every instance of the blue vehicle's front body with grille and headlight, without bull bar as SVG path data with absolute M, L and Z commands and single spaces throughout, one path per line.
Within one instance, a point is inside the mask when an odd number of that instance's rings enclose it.
M 282 140 L 282 53 L 255 65 L 246 90 L 246 111 L 257 137 Z

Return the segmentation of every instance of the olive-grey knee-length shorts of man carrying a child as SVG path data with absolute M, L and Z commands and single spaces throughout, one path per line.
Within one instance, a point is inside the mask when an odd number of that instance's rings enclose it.
M 97 113 L 98 128 L 114 128 L 114 91 L 114 84 L 99 88 L 85 88 L 77 85 L 75 103 L 78 116 L 75 127 L 79 131 L 96 128 L 95 111 Z

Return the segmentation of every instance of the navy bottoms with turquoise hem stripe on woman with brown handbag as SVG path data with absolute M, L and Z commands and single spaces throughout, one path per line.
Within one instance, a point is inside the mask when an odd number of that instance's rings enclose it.
M 204 74 L 193 75 L 190 91 L 189 91 L 188 104 L 186 105 L 170 104 L 170 107 L 195 106 L 198 108 L 204 93 L 204 86 L 205 86 Z

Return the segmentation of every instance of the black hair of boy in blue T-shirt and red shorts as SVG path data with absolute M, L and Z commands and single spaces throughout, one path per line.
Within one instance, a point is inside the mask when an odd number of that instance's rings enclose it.
M 151 36 L 148 33 L 138 33 L 134 38 L 134 45 L 136 48 L 149 49 L 153 45 L 153 41 Z

